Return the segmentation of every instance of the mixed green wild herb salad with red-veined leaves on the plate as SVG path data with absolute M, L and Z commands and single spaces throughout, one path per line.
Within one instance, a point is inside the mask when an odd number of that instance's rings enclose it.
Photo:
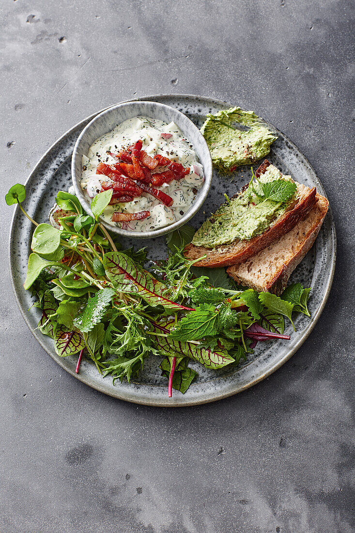
M 194 233 L 188 226 L 168 236 L 168 259 L 147 268 L 144 249 L 122 251 L 98 222 L 111 197 L 108 190 L 93 198 L 93 219 L 76 196 L 59 191 L 50 225 L 24 211 L 23 185 L 6 195 L 36 226 L 24 287 L 42 311 L 38 329 L 60 357 L 77 355 L 76 372 L 86 357 L 103 377 L 130 382 L 155 357 L 171 397 L 196 379 L 190 361 L 216 371 L 237 366 L 257 342 L 289 340 L 285 317 L 293 325 L 294 312 L 310 316 L 310 289 L 301 284 L 281 297 L 259 294 L 232 286 L 224 269 L 194 267 L 181 255 Z

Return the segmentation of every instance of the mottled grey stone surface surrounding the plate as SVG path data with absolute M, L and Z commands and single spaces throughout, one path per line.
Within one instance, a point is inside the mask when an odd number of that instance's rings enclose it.
M 297 144 L 338 237 L 332 293 L 291 360 L 236 397 L 148 408 L 79 383 L 36 343 L 8 279 L 3 202 L 0 531 L 354 531 L 351 2 L 3 0 L 0 13 L 4 191 L 96 110 L 203 94 Z

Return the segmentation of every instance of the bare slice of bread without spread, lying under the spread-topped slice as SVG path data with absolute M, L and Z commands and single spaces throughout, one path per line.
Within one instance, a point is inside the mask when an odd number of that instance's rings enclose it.
M 291 231 L 244 263 L 230 266 L 228 274 L 240 285 L 279 296 L 312 247 L 328 211 L 329 202 L 324 196 L 317 194 L 316 201 L 310 213 Z

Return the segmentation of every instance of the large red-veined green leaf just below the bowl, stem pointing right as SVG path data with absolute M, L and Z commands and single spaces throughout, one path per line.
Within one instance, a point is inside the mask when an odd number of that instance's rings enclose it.
M 150 272 L 141 268 L 122 252 L 110 252 L 104 255 L 103 264 L 106 274 L 118 292 L 135 293 L 150 305 L 162 305 L 165 309 L 175 311 L 193 311 L 189 307 L 172 302 L 164 297 L 166 286 Z

